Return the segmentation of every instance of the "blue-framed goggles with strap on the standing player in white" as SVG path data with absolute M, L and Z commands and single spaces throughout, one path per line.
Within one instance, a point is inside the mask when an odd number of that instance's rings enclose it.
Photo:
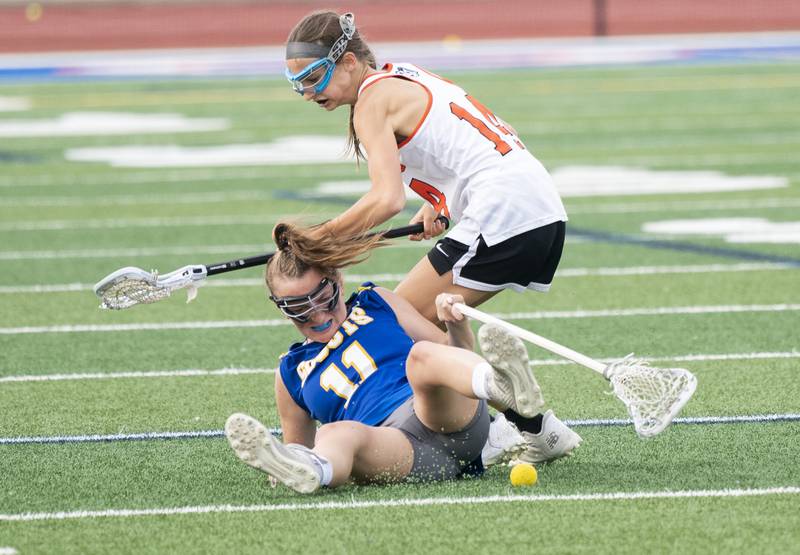
M 355 16 L 352 13 L 343 14 L 339 17 L 339 25 L 342 28 L 342 35 L 336 39 L 327 55 L 311 62 L 297 73 L 292 73 L 286 68 L 284 72 L 286 79 L 297 94 L 310 92 L 312 95 L 317 95 L 331 82 L 336 62 L 347 50 L 347 43 L 356 33 Z M 290 42 L 286 45 L 286 59 L 310 57 L 308 55 L 319 56 L 325 52 L 324 50 L 320 52 L 320 48 L 324 47 L 314 43 Z

